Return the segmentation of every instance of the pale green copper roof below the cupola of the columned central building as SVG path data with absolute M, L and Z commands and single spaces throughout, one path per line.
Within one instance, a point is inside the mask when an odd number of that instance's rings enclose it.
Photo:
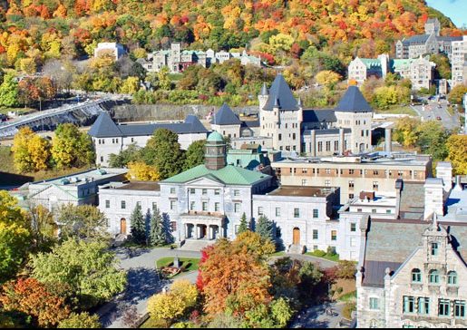
M 209 170 L 204 165 L 199 165 L 193 169 L 185 170 L 162 182 L 184 183 L 190 180 L 207 177 L 219 180 L 226 185 L 253 185 L 254 183 L 270 178 L 267 174 L 253 170 L 245 170 L 236 166 L 228 165 L 220 170 Z

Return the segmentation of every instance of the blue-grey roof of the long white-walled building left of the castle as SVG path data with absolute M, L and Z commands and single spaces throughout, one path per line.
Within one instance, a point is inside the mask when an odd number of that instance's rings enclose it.
M 102 118 L 102 119 L 101 119 Z M 101 120 L 100 120 L 101 119 Z M 208 133 L 196 116 L 189 115 L 185 122 L 180 123 L 153 123 L 153 124 L 121 124 L 116 125 L 110 116 L 102 115 L 94 122 L 89 135 L 95 138 L 112 138 L 126 136 L 147 136 L 152 135 L 158 129 L 167 129 L 177 134 L 187 133 Z

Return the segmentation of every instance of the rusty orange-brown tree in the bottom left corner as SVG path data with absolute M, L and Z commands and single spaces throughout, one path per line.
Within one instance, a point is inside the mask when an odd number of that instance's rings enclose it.
M 18 278 L 2 287 L 0 303 L 6 311 L 20 311 L 34 318 L 34 324 L 51 327 L 70 314 L 63 298 L 54 296 L 35 278 Z

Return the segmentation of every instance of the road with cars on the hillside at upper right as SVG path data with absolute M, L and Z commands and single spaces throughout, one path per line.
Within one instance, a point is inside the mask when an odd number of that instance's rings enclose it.
M 451 115 L 447 111 L 448 102 L 440 100 L 440 102 L 428 101 L 426 105 L 413 105 L 412 109 L 422 117 L 423 121 L 436 121 L 441 118 L 443 126 L 448 130 L 455 130 L 461 127 L 460 117 L 458 112 Z

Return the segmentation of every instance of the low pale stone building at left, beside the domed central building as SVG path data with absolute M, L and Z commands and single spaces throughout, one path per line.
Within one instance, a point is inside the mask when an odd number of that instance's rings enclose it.
M 124 181 L 126 173 L 125 169 L 85 170 L 70 176 L 27 183 L 13 190 L 12 195 L 24 209 L 28 209 L 30 204 L 43 205 L 51 210 L 63 204 L 97 205 L 98 187 L 111 181 Z

